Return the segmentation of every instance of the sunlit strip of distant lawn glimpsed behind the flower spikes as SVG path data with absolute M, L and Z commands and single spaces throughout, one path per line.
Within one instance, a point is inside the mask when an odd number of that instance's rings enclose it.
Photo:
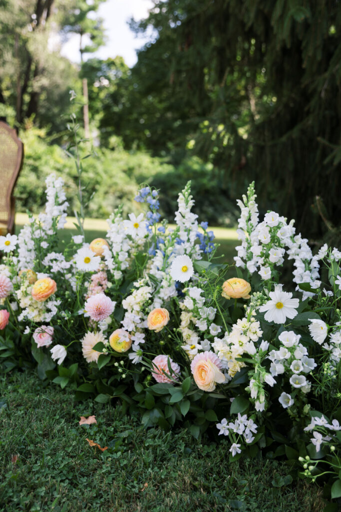
M 15 232 L 18 234 L 21 227 L 28 222 L 27 214 L 17 213 L 15 215 Z M 77 234 L 74 223 L 75 217 L 67 217 L 65 228 L 61 230 L 61 240 L 70 241 L 74 234 Z M 171 227 L 171 226 L 170 226 Z M 86 234 L 86 242 L 91 242 L 94 238 L 104 238 L 108 225 L 102 219 L 85 219 L 84 229 Z M 233 263 L 233 257 L 236 255 L 235 247 L 239 244 L 235 229 L 213 227 L 211 228 L 216 236 L 215 242 L 220 244 L 216 255 L 224 257 L 224 261 Z

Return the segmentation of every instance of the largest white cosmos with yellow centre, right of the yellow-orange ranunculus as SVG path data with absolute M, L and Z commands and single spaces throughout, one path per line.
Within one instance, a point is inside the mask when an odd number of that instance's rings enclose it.
M 286 318 L 294 318 L 297 315 L 296 308 L 299 307 L 298 298 L 291 298 L 292 293 L 282 291 L 276 287 L 275 291 L 269 293 L 270 301 L 260 306 L 259 311 L 266 311 L 264 318 L 268 322 L 284 324 Z

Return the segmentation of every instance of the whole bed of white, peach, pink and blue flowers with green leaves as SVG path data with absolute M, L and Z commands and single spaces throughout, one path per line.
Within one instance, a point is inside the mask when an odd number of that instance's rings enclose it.
M 37 364 L 77 399 L 120 399 L 146 426 L 184 421 L 198 437 L 213 424 L 231 460 L 286 455 L 339 498 L 341 252 L 313 255 L 274 211 L 260 222 L 253 183 L 238 201 L 235 265 L 217 262 L 190 183 L 175 227 L 144 186 L 138 215 L 115 210 L 90 243 L 80 223 L 60 249 L 62 180 L 50 176 L 46 193 L 18 237 L 0 237 L 3 370 Z

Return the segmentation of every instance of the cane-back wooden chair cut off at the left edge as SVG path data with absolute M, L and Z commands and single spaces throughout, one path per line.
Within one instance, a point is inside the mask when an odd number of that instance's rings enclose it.
M 14 129 L 0 121 L 0 234 L 14 233 L 13 189 L 24 158 L 24 145 Z

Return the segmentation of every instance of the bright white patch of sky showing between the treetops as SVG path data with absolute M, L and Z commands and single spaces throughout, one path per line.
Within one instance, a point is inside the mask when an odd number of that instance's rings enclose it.
M 128 27 L 127 21 L 133 16 L 142 19 L 148 15 L 153 6 L 152 0 L 107 0 L 99 10 L 98 16 L 104 19 L 107 43 L 97 52 L 85 54 L 85 59 L 98 57 L 106 59 L 121 55 L 127 66 L 132 67 L 137 61 L 136 49 L 141 48 L 146 38 L 136 37 Z M 79 36 L 73 35 L 61 45 L 61 54 L 73 62 L 79 62 Z

